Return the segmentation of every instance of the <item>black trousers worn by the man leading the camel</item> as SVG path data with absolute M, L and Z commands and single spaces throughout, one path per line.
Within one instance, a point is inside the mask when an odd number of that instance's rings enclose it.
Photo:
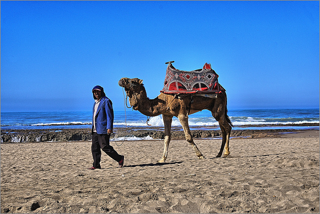
M 112 146 L 110 146 L 110 135 L 108 134 L 97 134 L 93 132 L 92 134 L 92 144 L 91 152 L 93 157 L 93 167 L 101 168 L 101 150 L 105 152 L 110 158 L 114 161 L 119 162 L 122 159 L 122 156 L 119 155 Z

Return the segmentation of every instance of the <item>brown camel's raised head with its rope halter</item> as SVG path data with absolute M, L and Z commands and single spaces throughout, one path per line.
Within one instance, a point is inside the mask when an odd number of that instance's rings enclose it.
M 142 79 L 138 78 L 121 78 L 118 82 L 119 86 L 123 87 L 126 95 L 129 97 L 130 105 L 134 110 L 137 110 L 138 100 L 141 97 L 146 97 L 145 89 L 142 84 Z

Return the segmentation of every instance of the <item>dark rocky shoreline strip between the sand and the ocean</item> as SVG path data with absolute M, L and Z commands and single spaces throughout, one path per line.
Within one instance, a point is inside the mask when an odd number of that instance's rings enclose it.
M 318 124 L 303 124 L 303 126 L 311 126 L 313 129 Z M 288 125 L 291 126 L 291 125 Z M 292 125 L 293 126 L 293 125 Z M 244 126 L 243 126 L 244 127 Z M 215 130 L 208 130 L 208 129 Z M 217 127 L 197 127 L 191 130 L 192 137 L 196 138 L 212 138 L 220 137 L 221 131 Z M 263 138 L 263 137 L 280 137 L 281 133 L 287 132 L 303 132 L 305 130 L 296 129 L 265 129 L 260 130 L 232 130 L 231 137 L 245 138 Z M 138 137 L 143 138 L 150 136 L 152 139 L 164 139 L 163 127 L 130 127 L 117 128 L 114 130 L 117 137 Z M 90 129 L 28 129 L 28 130 L 1 130 L 1 143 L 27 143 L 27 142 L 65 142 L 65 141 L 90 141 Z M 171 139 L 184 139 L 184 133 L 181 127 L 173 127 L 171 129 Z

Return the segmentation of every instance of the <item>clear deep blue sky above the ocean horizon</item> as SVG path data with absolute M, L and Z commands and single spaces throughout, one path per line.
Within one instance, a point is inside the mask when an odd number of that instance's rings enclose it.
M 319 1 L 1 1 L 1 112 L 91 111 L 211 63 L 228 109 L 319 107 Z

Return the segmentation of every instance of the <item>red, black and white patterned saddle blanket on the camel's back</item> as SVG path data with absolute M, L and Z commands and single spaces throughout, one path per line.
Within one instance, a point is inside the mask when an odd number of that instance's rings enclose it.
M 218 75 L 205 63 L 202 69 L 182 71 L 173 67 L 171 63 L 166 68 L 164 87 L 160 91 L 164 94 L 177 93 L 219 93 L 222 88 L 218 83 Z

